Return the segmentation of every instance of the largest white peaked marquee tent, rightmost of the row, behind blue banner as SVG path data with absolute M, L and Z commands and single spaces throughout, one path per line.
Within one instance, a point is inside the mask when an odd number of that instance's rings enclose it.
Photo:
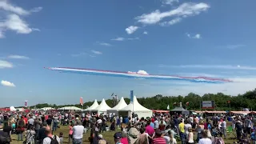
M 132 113 L 134 112 L 134 114 L 138 114 L 139 118 L 151 117 L 153 114 L 152 110 L 149 110 L 138 103 L 136 96 L 134 96 L 134 102 L 131 102 L 128 106 L 118 111 L 119 111 L 119 114 L 121 114 L 122 112 L 126 112 L 126 114 L 122 114 L 122 115 L 127 115 L 127 112 L 128 112 L 129 116 L 131 116 Z

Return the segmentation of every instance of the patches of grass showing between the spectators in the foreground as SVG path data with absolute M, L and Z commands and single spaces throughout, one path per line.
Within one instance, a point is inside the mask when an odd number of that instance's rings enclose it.
M 102 133 L 103 138 L 106 139 L 107 142 L 109 142 L 110 144 L 114 144 L 114 133 L 121 131 L 116 130 L 116 131 L 108 131 L 108 132 L 104 132 Z M 60 129 L 58 129 L 57 131 L 54 131 L 54 134 L 58 135 L 60 132 L 63 132 L 64 134 L 64 143 L 68 143 L 68 134 L 69 134 L 69 126 L 61 126 Z M 227 134 L 228 138 L 224 139 L 226 144 L 231 144 L 234 143 L 234 139 L 230 139 L 230 138 L 234 138 L 233 134 Z M 88 141 L 88 138 L 90 137 L 90 130 L 86 132 L 86 134 L 83 135 L 83 143 L 90 143 Z M 12 142 L 11 144 L 22 144 L 21 141 L 17 141 L 17 135 L 16 134 L 12 134 L 11 136 L 12 138 Z M 196 134 L 194 134 L 194 139 L 196 139 Z M 181 143 L 180 141 L 178 141 L 178 143 Z

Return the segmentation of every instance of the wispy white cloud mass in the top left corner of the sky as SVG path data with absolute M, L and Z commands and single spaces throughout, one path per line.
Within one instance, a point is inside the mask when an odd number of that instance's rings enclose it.
M 42 10 L 42 7 L 36 7 L 32 10 L 24 10 L 22 7 L 14 6 L 6 0 L 0 1 L 0 10 L 4 10 L 0 18 L 0 38 L 5 38 L 6 30 L 11 30 L 17 34 L 30 34 L 32 31 L 40 31 L 37 28 L 30 28 L 29 24 L 20 16 L 29 15 L 32 12 Z M 6 17 L 6 18 L 5 18 Z

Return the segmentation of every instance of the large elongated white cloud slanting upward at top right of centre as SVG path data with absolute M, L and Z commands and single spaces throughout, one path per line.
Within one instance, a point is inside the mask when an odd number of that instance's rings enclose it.
M 185 2 L 178 8 L 174 10 L 169 10 L 166 12 L 160 12 L 160 10 L 155 10 L 150 14 L 142 14 L 141 16 L 136 17 L 135 19 L 142 24 L 156 24 L 162 21 L 163 18 L 169 17 L 182 17 L 186 18 L 188 16 L 194 16 L 200 14 L 203 11 L 206 11 L 210 6 L 206 3 L 194 3 L 194 2 Z

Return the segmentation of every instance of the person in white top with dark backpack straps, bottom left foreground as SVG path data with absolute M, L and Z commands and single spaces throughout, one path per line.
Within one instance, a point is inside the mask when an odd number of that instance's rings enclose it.
M 46 127 L 46 138 L 43 139 L 42 144 L 60 144 L 61 140 L 57 135 L 53 135 L 50 126 Z

